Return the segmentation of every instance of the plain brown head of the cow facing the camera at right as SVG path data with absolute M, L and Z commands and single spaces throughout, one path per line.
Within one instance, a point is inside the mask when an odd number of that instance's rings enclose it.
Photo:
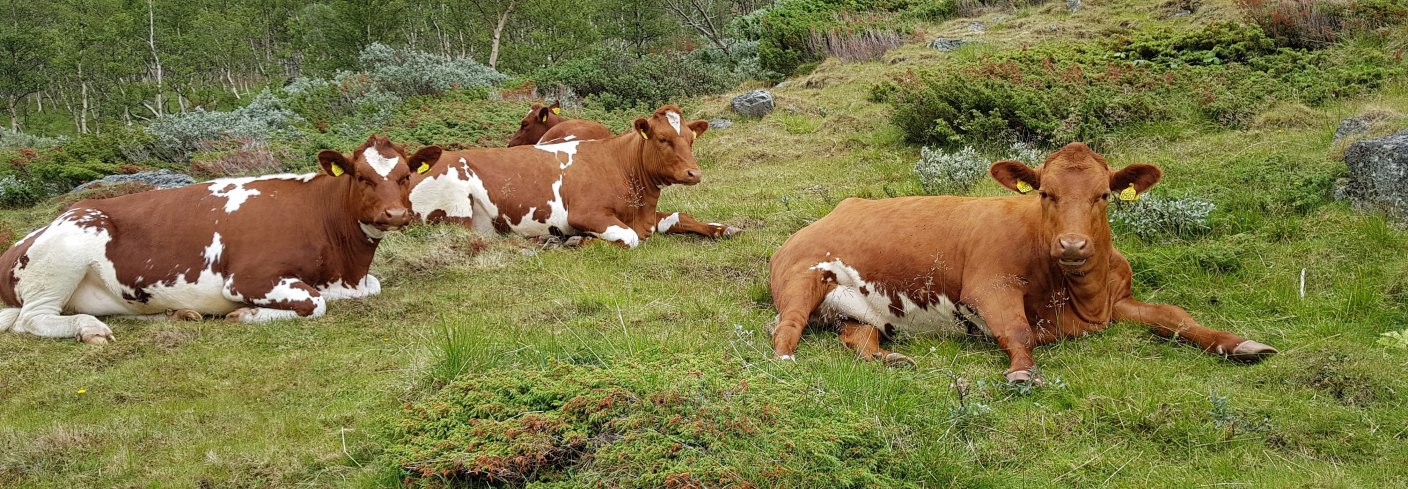
M 1062 271 L 1084 273 L 1110 252 L 1110 199 L 1135 199 L 1149 190 L 1163 171 L 1153 165 L 1129 165 L 1114 171 L 1105 158 L 1081 142 L 1067 144 L 1041 168 L 1018 161 L 993 163 L 990 173 L 998 183 L 1018 193 L 1036 192 L 1042 206 L 1042 235 L 1049 241 L 1050 258 Z

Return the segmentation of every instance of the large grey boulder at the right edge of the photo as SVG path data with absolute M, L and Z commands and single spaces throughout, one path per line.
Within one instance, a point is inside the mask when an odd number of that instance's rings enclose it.
M 1408 130 L 1354 141 L 1345 151 L 1349 185 L 1342 192 L 1359 209 L 1383 209 L 1408 221 Z M 1340 193 L 1340 192 L 1336 192 Z

